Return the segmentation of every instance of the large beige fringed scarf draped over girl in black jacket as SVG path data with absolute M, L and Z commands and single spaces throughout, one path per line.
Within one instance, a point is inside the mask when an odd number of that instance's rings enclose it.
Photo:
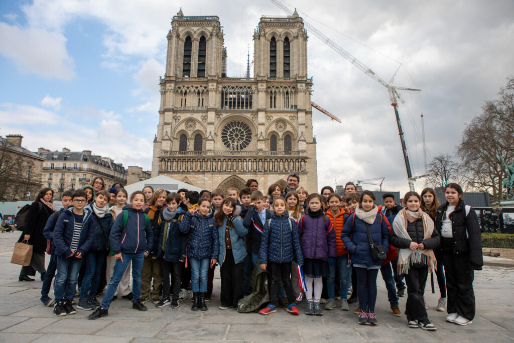
M 410 213 L 409 213 L 410 212 Z M 414 214 L 413 214 L 414 213 Z M 416 218 L 417 217 L 417 218 Z M 405 208 L 400 210 L 393 222 L 393 230 L 397 237 L 405 238 L 412 241 L 409 233 L 407 233 L 408 222 L 415 222 L 417 219 L 423 218 L 424 239 L 432 237 L 434 232 L 434 222 L 430 216 L 418 209 L 417 212 L 411 212 Z M 398 273 L 409 274 L 409 266 L 413 263 L 425 263 L 428 265 L 428 272 L 431 273 L 436 269 L 436 260 L 432 249 L 412 250 L 411 248 L 398 249 Z

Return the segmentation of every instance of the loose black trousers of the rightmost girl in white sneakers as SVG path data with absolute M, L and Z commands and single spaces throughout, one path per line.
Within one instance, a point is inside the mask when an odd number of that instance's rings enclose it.
M 475 316 L 474 270 L 469 255 L 443 251 L 446 275 L 447 312 L 472 320 Z

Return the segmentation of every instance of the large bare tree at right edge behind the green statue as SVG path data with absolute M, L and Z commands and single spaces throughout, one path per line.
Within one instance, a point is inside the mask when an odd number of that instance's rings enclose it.
M 501 156 L 507 163 L 514 160 L 514 77 L 498 95 L 484 103 L 482 114 L 466 126 L 457 147 L 468 186 L 489 192 L 494 201 L 504 198 L 502 180 L 507 172 Z

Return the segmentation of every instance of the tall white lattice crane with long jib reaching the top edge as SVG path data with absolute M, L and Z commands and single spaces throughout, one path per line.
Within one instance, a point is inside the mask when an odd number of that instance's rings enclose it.
M 295 11 L 291 11 L 287 6 L 282 4 L 278 0 L 269 0 L 272 4 L 279 7 L 281 10 L 286 12 L 288 15 L 298 15 L 298 13 Z M 394 76 L 396 75 L 396 72 L 394 73 L 393 77 L 389 82 L 382 79 L 380 76 L 376 75 L 373 70 L 371 70 L 368 66 L 366 66 L 364 63 L 356 59 L 354 56 L 352 56 L 348 51 L 344 50 L 342 47 L 340 47 L 336 42 L 329 39 L 324 35 L 321 31 L 319 31 L 314 26 L 310 25 L 309 23 L 303 21 L 303 26 L 307 29 L 307 31 L 313 33 L 316 37 L 318 37 L 323 43 L 334 49 L 339 55 L 344 57 L 346 60 L 350 61 L 353 65 L 355 65 L 357 68 L 363 71 L 364 74 L 368 75 L 373 80 L 380 83 L 382 86 L 387 88 L 387 91 L 389 93 L 389 99 L 391 100 L 391 106 L 394 107 L 394 113 L 396 115 L 396 124 L 398 126 L 398 133 L 400 136 L 400 143 L 401 143 L 401 150 L 403 152 L 403 161 L 405 161 L 405 168 L 407 169 L 407 179 L 409 182 L 409 188 L 411 191 L 414 191 L 414 181 L 412 180 L 412 170 L 411 170 L 411 164 L 409 161 L 409 154 L 407 152 L 407 145 L 405 143 L 405 137 L 403 137 L 403 129 L 401 128 L 401 121 L 400 116 L 398 114 L 398 101 L 397 99 L 400 99 L 400 95 L 398 94 L 398 91 L 409 91 L 409 92 L 420 92 L 421 89 L 416 88 L 407 88 L 407 87 L 397 87 L 393 86 L 393 80 Z M 400 65 L 401 66 L 401 65 Z

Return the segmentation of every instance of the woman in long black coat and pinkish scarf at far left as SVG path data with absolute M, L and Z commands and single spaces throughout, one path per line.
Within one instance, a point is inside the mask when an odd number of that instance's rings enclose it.
M 32 259 L 30 265 L 23 266 L 20 272 L 20 281 L 34 281 L 29 275 L 35 276 L 36 270 L 41 273 L 41 280 L 45 277 L 45 250 L 46 238 L 43 236 L 48 217 L 53 213 L 55 207 L 52 204 L 53 191 L 50 188 L 43 188 L 35 201 L 30 205 L 27 213 L 27 220 L 23 227 L 23 233 L 18 242 L 28 241 L 32 245 Z

